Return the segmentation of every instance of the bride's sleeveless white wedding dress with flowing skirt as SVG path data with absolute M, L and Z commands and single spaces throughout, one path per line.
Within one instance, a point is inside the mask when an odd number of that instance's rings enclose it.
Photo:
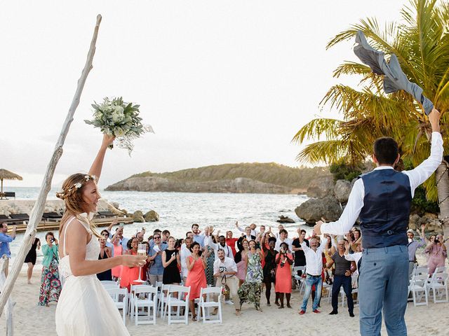
M 64 228 L 63 253 L 65 255 L 65 232 L 74 217 Z M 92 234 L 90 228 L 82 223 Z M 98 260 L 100 244 L 94 235 L 86 245 L 86 260 Z M 95 274 L 74 276 L 70 269 L 69 255 L 60 260 L 59 271 L 64 285 L 56 307 L 56 332 L 59 336 L 123 336 L 129 335 L 123 324 L 119 309 Z

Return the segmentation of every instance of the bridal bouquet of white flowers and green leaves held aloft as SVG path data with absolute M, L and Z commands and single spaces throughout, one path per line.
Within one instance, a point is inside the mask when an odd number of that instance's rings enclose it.
M 134 139 L 138 139 L 145 132 L 154 133 L 150 125 L 142 125 L 142 118 L 139 117 L 140 105 L 123 102 L 122 97 L 105 97 L 102 104 L 94 103 L 93 120 L 84 120 L 86 124 L 99 127 L 102 133 L 114 135 L 119 148 L 126 148 L 129 155 L 134 148 Z

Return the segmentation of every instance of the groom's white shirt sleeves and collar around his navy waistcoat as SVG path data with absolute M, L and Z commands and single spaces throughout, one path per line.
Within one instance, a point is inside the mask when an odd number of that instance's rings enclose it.
M 443 160 L 443 139 L 440 132 L 432 132 L 430 156 L 424 160 L 421 165 L 415 169 L 402 172 L 408 176 L 410 180 L 410 191 L 412 197 L 415 195 L 415 189 L 420 186 L 421 183 L 429 179 L 441 164 Z M 382 166 L 377 167 L 374 170 L 379 169 L 393 169 L 393 167 Z M 338 221 L 324 223 L 321 225 L 321 233 L 328 233 L 330 235 L 346 235 L 351 230 L 354 223 L 363 208 L 363 199 L 365 198 L 365 187 L 363 186 L 363 180 L 358 179 L 352 187 L 351 193 L 346 207 L 343 210 L 342 216 Z

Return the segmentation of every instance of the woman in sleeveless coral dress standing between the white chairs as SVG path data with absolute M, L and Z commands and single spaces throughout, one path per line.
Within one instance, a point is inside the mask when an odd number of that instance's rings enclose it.
M 206 260 L 204 255 L 201 253 L 201 245 L 194 241 L 192 246 L 190 246 L 190 252 L 192 255 L 187 257 L 187 280 L 185 283 L 186 287 L 190 287 L 189 305 L 190 311 L 192 311 L 192 321 L 196 321 L 196 310 L 195 310 L 195 299 L 199 298 L 201 293 L 201 288 L 206 288 L 206 274 L 204 269 L 206 269 Z

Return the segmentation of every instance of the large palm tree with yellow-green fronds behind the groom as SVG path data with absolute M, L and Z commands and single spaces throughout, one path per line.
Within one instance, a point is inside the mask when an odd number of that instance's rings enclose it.
M 445 121 L 449 111 L 449 4 L 437 0 L 412 0 L 401 10 L 401 22 L 387 23 L 380 28 L 375 18 L 361 20 L 337 34 L 327 45 L 353 40 L 363 31 L 370 45 L 382 50 L 386 57 L 395 54 L 411 81 L 424 89 L 442 113 L 441 132 L 447 134 Z M 361 78 L 358 87 L 330 87 L 321 106 L 340 111 L 341 119 L 316 118 L 304 125 L 293 137 L 305 146 L 297 160 L 312 164 L 332 164 L 344 160 L 349 165 L 364 162 L 372 153 L 377 137 L 394 137 L 402 157 L 418 165 L 429 155 L 431 127 L 422 106 L 405 92 L 385 94 L 382 77 L 374 75 L 364 64 L 344 62 L 334 71 L 335 77 L 354 75 Z M 324 139 L 321 139 L 324 138 Z M 448 144 L 445 144 L 448 149 Z M 435 179 L 424 183 L 427 198 L 439 199 L 443 232 L 449 237 L 448 164 L 443 161 Z M 438 191 L 438 193 L 437 193 Z

